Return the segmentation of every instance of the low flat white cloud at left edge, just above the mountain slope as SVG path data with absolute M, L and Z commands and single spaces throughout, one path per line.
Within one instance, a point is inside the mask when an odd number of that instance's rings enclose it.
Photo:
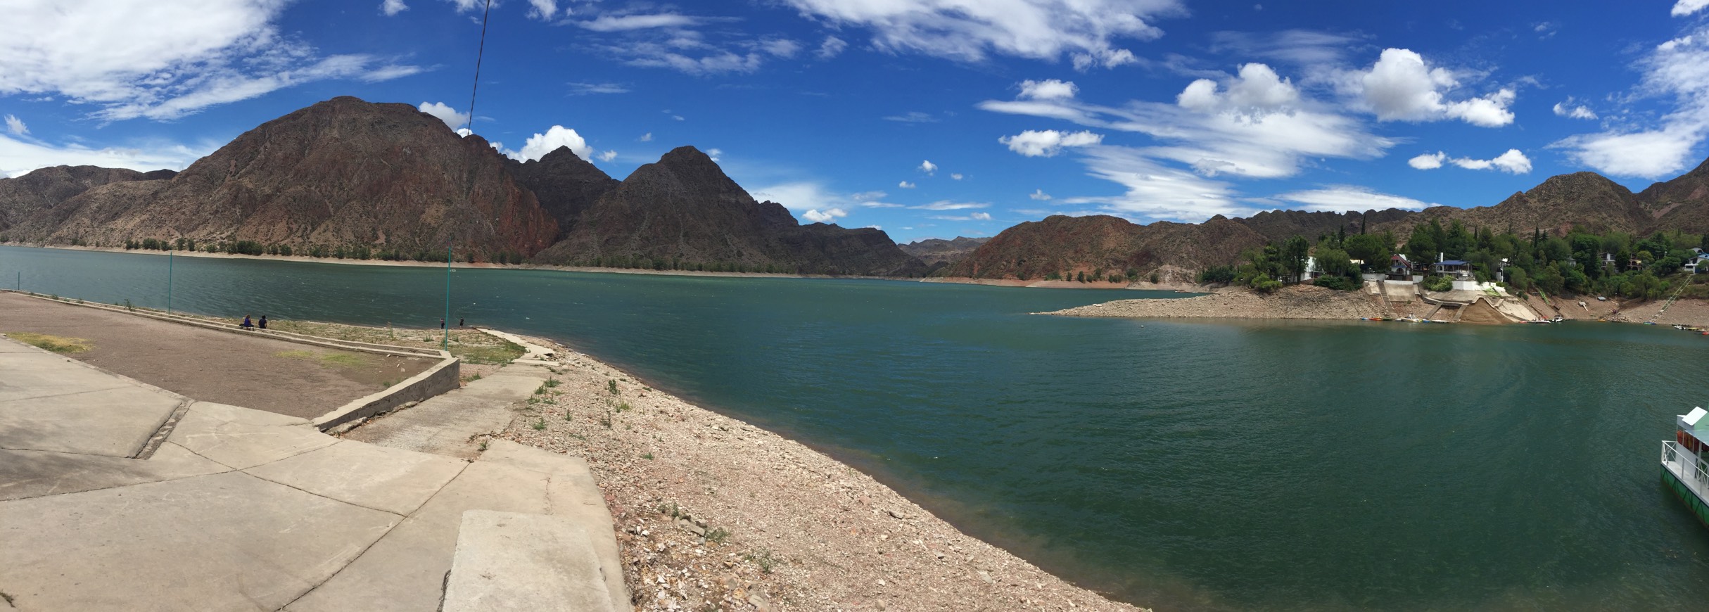
M 135 171 L 185 169 L 214 152 L 224 142 L 185 145 L 178 142 L 138 142 L 125 147 L 91 149 L 77 144 L 50 145 L 0 135 L 0 178 L 22 176 L 48 166 L 130 168 Z

